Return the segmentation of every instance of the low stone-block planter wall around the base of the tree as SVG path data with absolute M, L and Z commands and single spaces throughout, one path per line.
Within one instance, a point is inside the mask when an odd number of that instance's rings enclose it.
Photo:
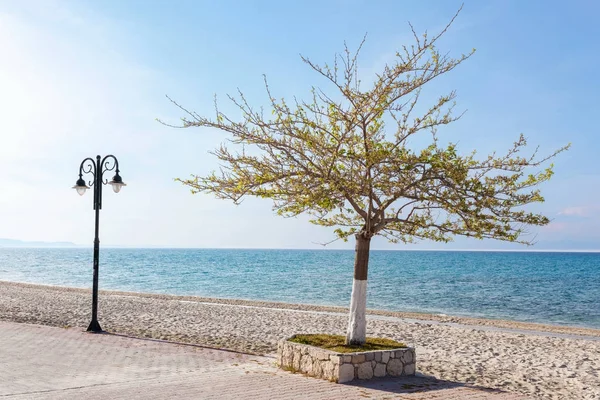
M 292 336 L 290 339 L 293 339 Z M 354 379 L 414 375 L 415 349 L 404 347 L 360 353 L 336 353 L 282 340 L 277 344 L 279 368 L 315 378 L 344 383 Z

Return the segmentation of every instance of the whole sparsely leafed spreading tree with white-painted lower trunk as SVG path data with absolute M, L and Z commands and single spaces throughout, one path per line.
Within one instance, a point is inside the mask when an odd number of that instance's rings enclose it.
M 310 101 L 278 101 L 265 78 L 270 116 L 250 106 L 242 92 L 228 96 L 241 110 L 240 121 L 221 112 L 216 99 L 212 119 L 169 98 L 187 115 L 183 127 L 216 128 L 232 136 L 233 150 L 221 145 L 212 153 L 223 165 L 219 172 L 180 179 L 193 193 L 212 193 L 236 204 L 246 196 L 272 199 L 279 215 L 308 213 L 312 223 L 334 227 L 338 239 L 354 236 L 349 344 L 366 339 L 373 236 L 395 243 L 448 242 L 459 235 L 531 244 L 525 227 L 549 222 L 522 206 L 544 201 L 536 187 L 550 179 L 553 166 L 535 167 L 568 146 L 546 157 L 538 157 L 537 149 L 522 156 L 527 143 L 521 135 L 505 154 L 477 159 L 475 152 L 461 155 L 455 143 L 438 140 L 437 129 L 461 117 L 452 114 L 454 91 L 417 112 L 421 88 L 474 52 L 451 58 L 436 47 L 457 15 L 434 37 L 418 36 L 411 25 L 414 44 L 403 46 L 370 85 L 357 76 L 364 39 L 354 53 L 344 46 L 333 66 L 301 56 L 333 92 L 313 87 Z M 431 133 L 431 143 L 411 148 L 409 139 L 423 132 Z

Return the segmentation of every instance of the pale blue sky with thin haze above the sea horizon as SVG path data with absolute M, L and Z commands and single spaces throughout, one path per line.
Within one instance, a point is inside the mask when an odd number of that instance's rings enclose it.
M 209 151 L 228 136 L 161 125 L 183 116 L 165 95 L 213 115 L 213 96 L 229 111 L 226 95 L 239 88 L 258 107 L 266 74 L 276 97 L 306 97 L 325 82 L 300 54 L 331 62 L 365 33 L 359 72 L 368 82 L 412 43 L 409 21 L 435 33 L 461 4 L 0 0 L 0 238 L 91 245 L 91 193 L 71 187 L 84 158 L 114 154 L 128 186 L 104 190 L 101 245 L 322 248 L 332 229 L 308 217 L 278 217 L 269 200 L 192 195 L 175 182 L 217 168 Z M 600 250 L 599 13 L 593 0 L 465 0 L 440 49 L 477 51 L 427 88 L 456 89 L 466 114 L 438 134 L 459 151 L 483 157 L 520 133 L 542 153 L 572 143 L 541 188 L 546 202 L 531 208 L 552 220 L 530 228 L 536 245 L 376 238 L 373 249 Z

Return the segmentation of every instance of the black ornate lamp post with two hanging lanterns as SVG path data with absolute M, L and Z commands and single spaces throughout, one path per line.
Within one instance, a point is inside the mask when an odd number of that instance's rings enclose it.
M 106 171 L 115 170 L 115 176 L 112 181 L 104 180 L 103 176 Z M 85 184 L 83 174 L 91 174 L 89 186 Z M 94 187 L 94 210 L 96 211 L 96 236 L 94 238 L 94 285 L 92 289 L 92 322 L 88 326 L 88 332 L 99 333 L 102 328 L 98 323 L 98 256 L 100 253 L 100 240 L 98 239 L 98 220 L 100 217 L 100 209 L 102 208 L 102 185 L 109 184 L 112 186 L 115 193 L 119 193 L 123 186 L 123 179 L 119 175 L 119 161 L 113 155 L 108 155 L 104 158 L 96 156 L 96 161 L 88 157 L 81 162 L 79 166 L 79 179 L 73 186 L 81 196 L 85 194 L 87 189 Z

